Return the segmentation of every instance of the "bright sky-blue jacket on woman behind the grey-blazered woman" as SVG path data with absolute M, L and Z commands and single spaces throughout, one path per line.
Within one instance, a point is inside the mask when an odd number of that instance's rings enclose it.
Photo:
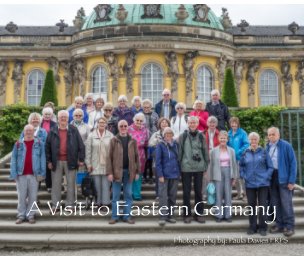
M 234 149 L 236 160 L 239 161 L 245 149 L 249 147 L 247 133 L 242 128 L 238 128 L 233 135 L 232 129 L 230 129 L 228 131 L 228 146 Z

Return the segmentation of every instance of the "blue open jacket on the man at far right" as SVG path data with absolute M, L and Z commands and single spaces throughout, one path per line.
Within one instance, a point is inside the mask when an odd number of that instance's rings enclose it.
M 278 147 L 278 175 L 280 184 L 295 184 L 297 178 L 297 160 L 292 146 L 286 141 L 280 139 Z M 270 146 L 266 145 L 269 152 Z

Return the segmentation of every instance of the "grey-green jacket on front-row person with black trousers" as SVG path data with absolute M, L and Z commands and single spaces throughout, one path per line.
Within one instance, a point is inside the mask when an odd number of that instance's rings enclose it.
M 195 161 L 193 158 L 196 158 Z M 188 131 L 179 136 L 179 161 L 182 172 L 205 172 L 209 164 L 209 152 L 205 136 L 198 131 L 193 137 Z

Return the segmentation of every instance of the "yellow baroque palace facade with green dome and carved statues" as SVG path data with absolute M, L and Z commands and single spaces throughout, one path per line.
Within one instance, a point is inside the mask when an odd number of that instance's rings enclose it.
M 38 105 L 54 71 L 59 105 L 93 92 L 116 104 L 125 94 L 156 103 L 164 88 L 192 106 L 234 71 L 241 107 L 304 106 L 304 28 L 233 26 L 205 4 L 98 4 L 74 26 L 0 26 L 0 105 Z

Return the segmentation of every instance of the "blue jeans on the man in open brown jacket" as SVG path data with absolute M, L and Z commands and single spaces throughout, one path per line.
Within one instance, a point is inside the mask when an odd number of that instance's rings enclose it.
M 132 182 L 129 182 L 129 170 L 123 169 L 122 182 L 113 181 L 112 185 L 112 219 L 118 220 L 122 216 L 123 220 L 130 217 L 132 207 Z M 118 204 L 120 200 L 121 185 L 123 185 L 124 202 Z M 123 208 L 123 213 L 119 213 L 119 209 Z

